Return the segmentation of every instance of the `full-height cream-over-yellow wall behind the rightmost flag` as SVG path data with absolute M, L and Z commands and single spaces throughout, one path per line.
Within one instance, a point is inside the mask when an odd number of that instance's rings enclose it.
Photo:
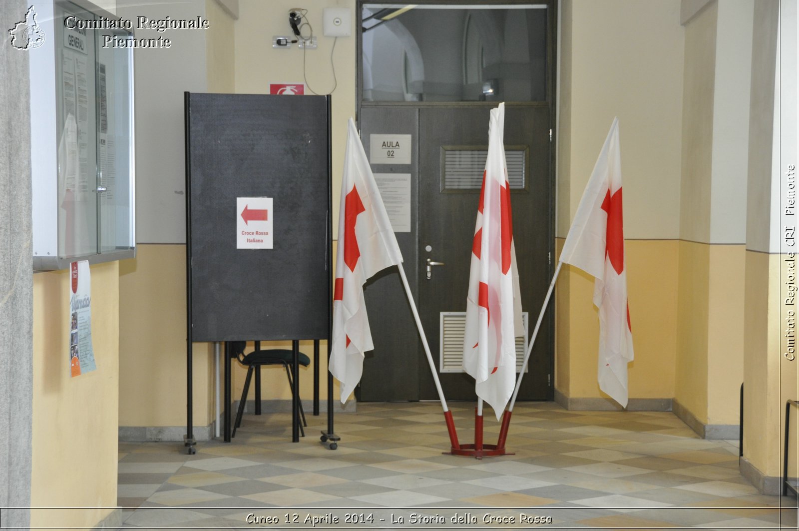
M 674 397 L 683 29 L 680 2 L 573 2 L 561 10 L 556 250 L 614 116 L 619 119 L 631 398 Z M 642 23 L 646 21 L 646 23 Z M 555 387 L 601 397 L 593 278 L 564 266 L 555 293 Z

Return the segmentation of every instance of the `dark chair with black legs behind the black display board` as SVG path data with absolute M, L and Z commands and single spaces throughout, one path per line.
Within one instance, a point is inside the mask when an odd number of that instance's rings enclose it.
M 288 377 L 288 388 L 292 389 L 292 398 L 294 397 L 294 385 L 292 381 L 291 365 L 294 359 L 294 353 L 291 349 L 260 349 L 260 341 L 255 341 L 255 350 L 251 353 L 244 354 L 244 348 L 247 341 L 231 341 L 231 353 L 237 357 L 241 365 L 247 367 L 247 377 L 244 380 L 244 389 L 241 393 L 241 400 L 239 401 L 239 409 L 236 414 L 236 422 L 233 423 L 233 437 L 236 437 L 236 429 L 241 425 L 241 417 L 244 414 L 244 405 L 247 402 L 247 393 L 249 391 L 249 384 L 252 380 L 252 373 L 255 373 L 255 414 L 260 415 L 260 367 L 262 365 L 283 365 L 286 369 L 286 376 Z M 307 367 L 311 365 L 311 358 L 304 353 L 297 354 L 297 361 L 300 365 Z M 257 369 L 257 372 L 256 372 Z M 299 399 L 299 397 L 298 397 Z M 300 417 L 297 420 L 300 422 L 300 433 L 305 437 L 305 430 L 303 426 L 307 426 L 305 421 L 305 412 L 302 408 L 302 401 L 300 402 Z

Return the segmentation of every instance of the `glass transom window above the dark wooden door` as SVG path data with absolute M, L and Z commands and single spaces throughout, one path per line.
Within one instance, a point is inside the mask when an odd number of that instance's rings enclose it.
M 364 4 L 364 102 L 546 99 L 547 6 Z

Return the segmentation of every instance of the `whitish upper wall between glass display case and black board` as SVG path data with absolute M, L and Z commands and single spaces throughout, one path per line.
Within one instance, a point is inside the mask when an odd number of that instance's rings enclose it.
M 205 16 L 205 0 L 117 0 L 117 16 L 133 20 Z M 183 93 L 205 92 L 206 30 L 135 30 L 137 38 L 169 38 L 166 48 L 134 54 L 136 106 L 136 239 L 185 243 Z

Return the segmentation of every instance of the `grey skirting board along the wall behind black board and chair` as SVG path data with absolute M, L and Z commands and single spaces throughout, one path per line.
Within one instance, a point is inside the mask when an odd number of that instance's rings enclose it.
M 233 418 L 236 417 L 236 412 L 239 407 L 239 401 L 233 402 Z M 305 411 L 305 416 L 308 417 L 313 411 L 313 401 L 303 400 L 302 407 Z M 340 413 L 355 413 L 356 401 L 348 400 L 346 404 L 341 405 L 338 400 L 333 401 L 333 413 L 338 415 Z M 288 413 L 292 410 L 291 400 L 262 400 L 260 401 L 261 413 Z M 244 406 L 244 413 L 252 413 L 255 411 L 255 401 L 248 400 L 247 405 Z M 328 413 L 328 401 L 320 401 L 319 403 L 320 415 Z M 223 411 L 224 415 L 225 412 Z M 213 439 L 214 423 L 211 422 L 205 426 L 193 426 L 193 435 L 195 441 L 210 441 Z M 183 442 L 183 436 L 186 433 L 186 426 L 119 426 L 119 440 L 124 442 L 141 442 L 141 441 L 175 441 Z

